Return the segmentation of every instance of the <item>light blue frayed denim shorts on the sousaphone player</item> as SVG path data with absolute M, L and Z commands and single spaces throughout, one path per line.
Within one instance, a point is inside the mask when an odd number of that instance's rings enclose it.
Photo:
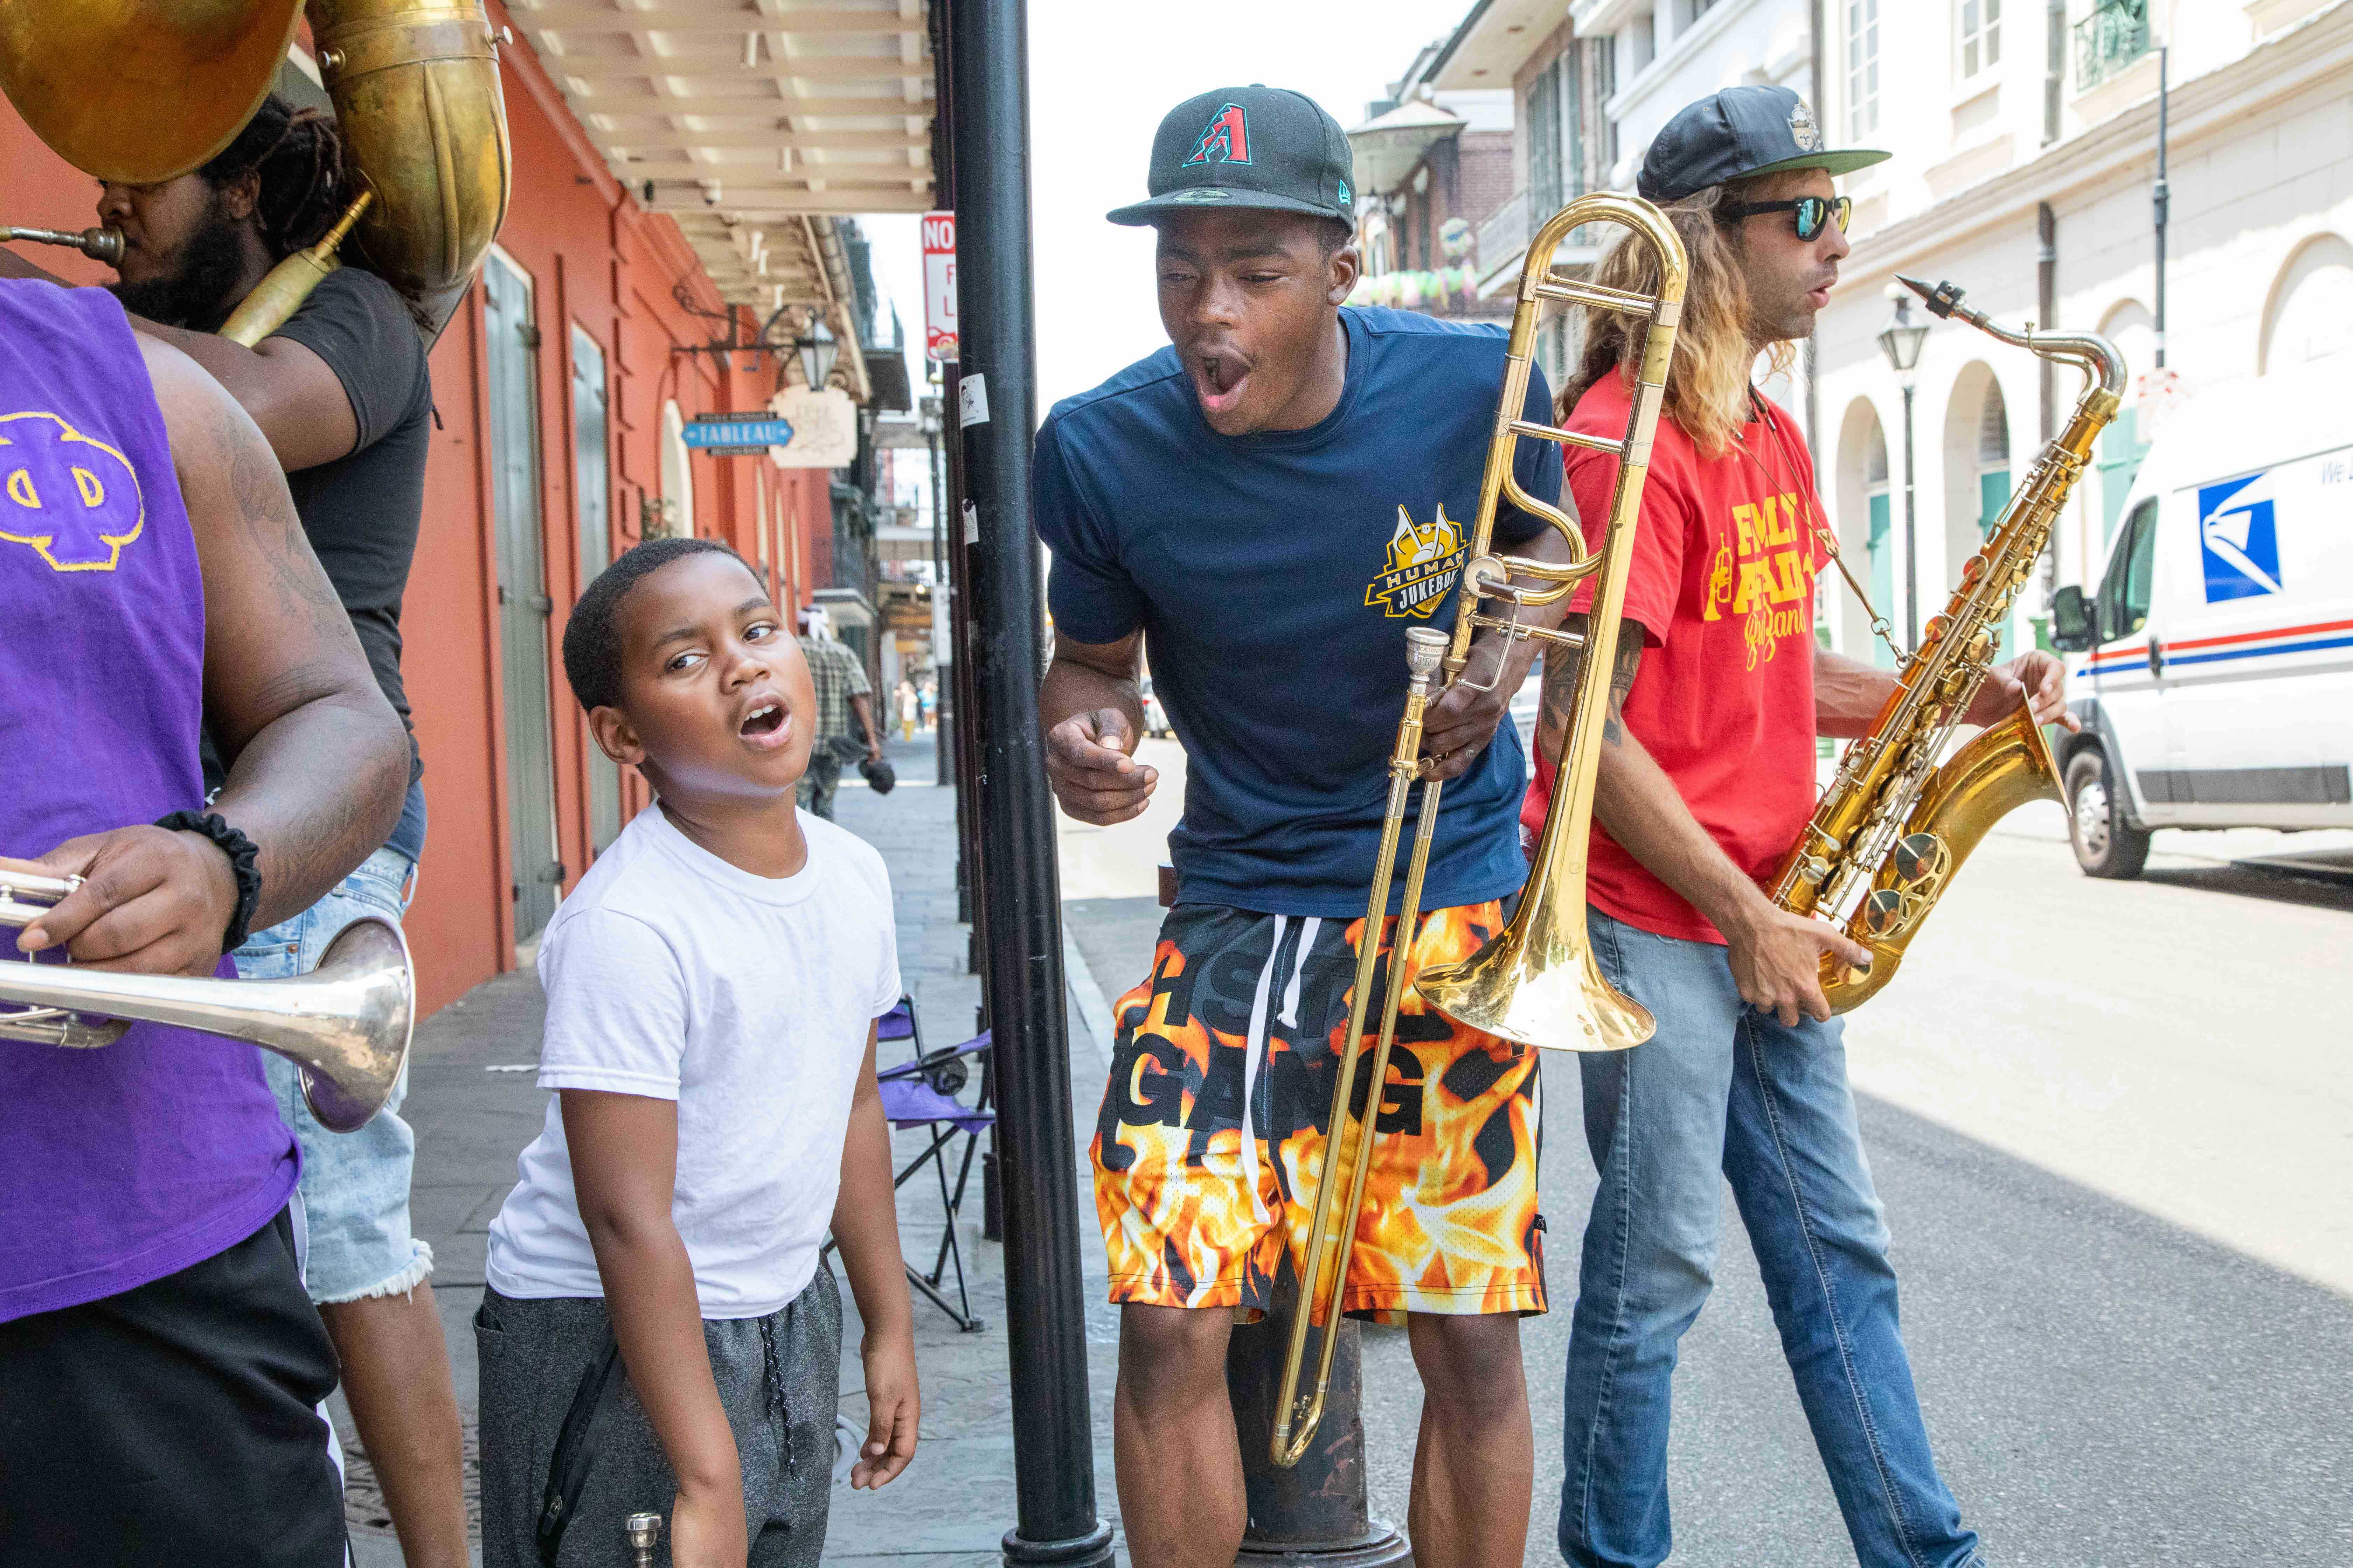
M 325 898 L 254 931 L 238 947 L 238 976 L 282 980 L 311 973 L 344 926 L 374 914 L 400 922 L 409 907 L 416 863 L 398 849 L 379 849 Z M 409 1234 L 409 1173 L 416 1133 L 395 1112 L 409 1093 L 407 1067 L 393 1098 L 374 1121 L 355 1133 L 329 1133 L 301 1098 L 301 1070 L 275 1051 L 264 1051 L 278 1114 L 301 1143 L 301 1204 L 311 1232 L 304 1288 L 318 1305 L 369 1295 L 402 1295 L 433 1272 L 433 1248 Z

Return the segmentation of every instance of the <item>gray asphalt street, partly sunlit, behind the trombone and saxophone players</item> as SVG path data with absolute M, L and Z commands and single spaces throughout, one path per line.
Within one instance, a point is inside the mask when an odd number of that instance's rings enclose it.
M 1068 926 L 1115 997 L 1151 957 L 1153 811 L 1064 825 Z M 2085 879 L 2057 811 L 1991 837 L 1849 1027 L 1939 1462 L 1995 1563 L 2353 1561 L 2353 879 L 2247 865 L 2353 835 L 2160 835 Z M 1546 1070 L 1555 1312 L 1522 1347 L 1529 1563 L 1555 1563 L 1560 1366 L 1593 1192 L 1572 1063 Z M 1402 1519 L 1419 1394 L 1365 1335 L 1374 1507 Z M 1685 1338 L 1675 1561 L 1852 1561 L 1739 1218 Z

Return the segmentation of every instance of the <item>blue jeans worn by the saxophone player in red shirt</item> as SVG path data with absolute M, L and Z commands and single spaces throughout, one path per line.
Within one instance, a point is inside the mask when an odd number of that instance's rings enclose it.
M 1602 973 L 1659 1032 L 1579 1058 L 1600 1192 L 1569 1324 L 1560 1554 L 1577 1568 L 1666 1561 L 1668 1385 L 1715 1279 L 1718 1180 L 1729 1180 L 1857 1561 L 1979 1563 L 1929 1458 L 1897 1331 L 1842 1025 L 1784 1027 L 1748 1009 L 1715 943 L 1652 936 L 1600 910 L 1588 931 Z

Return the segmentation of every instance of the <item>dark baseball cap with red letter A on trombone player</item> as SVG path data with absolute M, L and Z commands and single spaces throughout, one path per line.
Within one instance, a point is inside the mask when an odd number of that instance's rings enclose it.
M 1141 226 L 1169 212 L 1257 207 L 1355 223 L 1355 165 L 1339 120 L 1289 87 L 1219 87 L 1186 99 L 1153 134 L 1151 200 L 1111 212 Z

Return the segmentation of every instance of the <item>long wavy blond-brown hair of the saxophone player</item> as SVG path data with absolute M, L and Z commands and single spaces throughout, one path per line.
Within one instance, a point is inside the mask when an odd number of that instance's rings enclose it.
M 1682 327 L 1675 331 L 1675 357 L 1666 371 L 1666 416 L 1682 425 L 1708 458 L 1720 456 L 1732 433 L 1748 423 L 1748 376 L 1755 369 L 1755 350 L 1748 343 L 1748 280 L 1722 207 L 1762 200 L 1760 193 L 1774 183 L 1779 179 L 1769 174 L 1725 181 L 1661 207 L 1689 259 Z M 1649 294 L 1659 287 L 1659 261 L 1647 244 L 1631 240 L 1631 233 L 1619 237 L 1593 268 L 1593 282 Z M 1774 371 L 1788 369 L 1795 357 L 1788 343 L 1774 343 L 1767 353 Z M 1567 423 L 1577 400 L 1602 376 L 1617 374 L 1633 386 L 1638 357 L 1635 317 L 1588 310 L 1577 364 L 1560 386 L 1560 421 Z

